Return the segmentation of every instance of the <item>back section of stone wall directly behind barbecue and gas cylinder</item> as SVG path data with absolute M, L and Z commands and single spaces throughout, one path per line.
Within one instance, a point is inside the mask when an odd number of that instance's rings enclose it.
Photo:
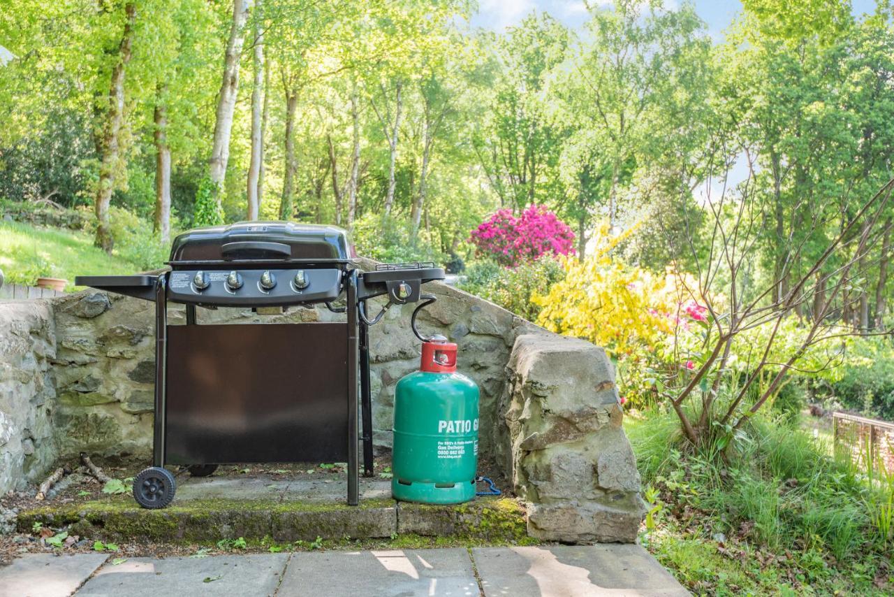
M 490 453 L 497 427 L 497 401 L 515 337 L 536 328 L 509 311 L 443 284 L 426 285 L 438 297 L 417 320 L 423 333 L 440 333 L 459 345 L 460 370 L 481 388 L 480 447 Z M 148 455 L 152 445 L 155 353 L 154 303 L 98 291 L 70 294 L 54 302 L 58 342 L 55 426 L 62 456 L 86 450 L 104 456 Z M 369 316 L 384 304 L 371 303 Z M 416 305 L 394 306 L 370 328 L 370 386 L 377 446 L 392 444 L 394 386 L 419 366 L 419 341 L 409 327 Z M 172 305 L 168 323 L 185 323 L 184 308 Z M 283 323 L 344 320 L 325 307 L 257 315 L 250 309 L 197 310 L 202 323 Z M 543 331 L 543 330 L 542 330 Z M 546 333 L 544 331 L 544 333 Z

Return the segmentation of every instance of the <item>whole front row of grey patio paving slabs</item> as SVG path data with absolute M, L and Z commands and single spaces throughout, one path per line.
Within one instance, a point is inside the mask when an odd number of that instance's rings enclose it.
M 113 563 L 113 560 L 115 563 Z M 687 595 L 638 545 L 311 551 L 206 558 L 23 556 L 0 597 Z

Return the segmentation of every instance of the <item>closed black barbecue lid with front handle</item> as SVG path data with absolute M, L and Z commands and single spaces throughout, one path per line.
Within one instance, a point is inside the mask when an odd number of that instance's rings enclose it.
M 239 222 L 184 232 L 173 240 L 170 264 L 231 261 L 329 261 L 353 258 L 348 233 L 336 226 Z

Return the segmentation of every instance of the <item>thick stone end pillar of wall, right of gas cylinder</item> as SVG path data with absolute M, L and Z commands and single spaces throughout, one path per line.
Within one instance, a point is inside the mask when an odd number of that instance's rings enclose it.
M 516 338 L 499 450 L 528 533 L 562 542 L 633 542 L 645 512 L 614 370 L 601 348 L 547 333 Z

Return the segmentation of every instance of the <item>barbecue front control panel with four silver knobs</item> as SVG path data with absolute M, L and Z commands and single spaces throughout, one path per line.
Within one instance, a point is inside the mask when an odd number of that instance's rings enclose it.
M 178 270 L 167 284 L 174 303 L 232 307 L 327 303 L 341 292 L 341 269 Z

